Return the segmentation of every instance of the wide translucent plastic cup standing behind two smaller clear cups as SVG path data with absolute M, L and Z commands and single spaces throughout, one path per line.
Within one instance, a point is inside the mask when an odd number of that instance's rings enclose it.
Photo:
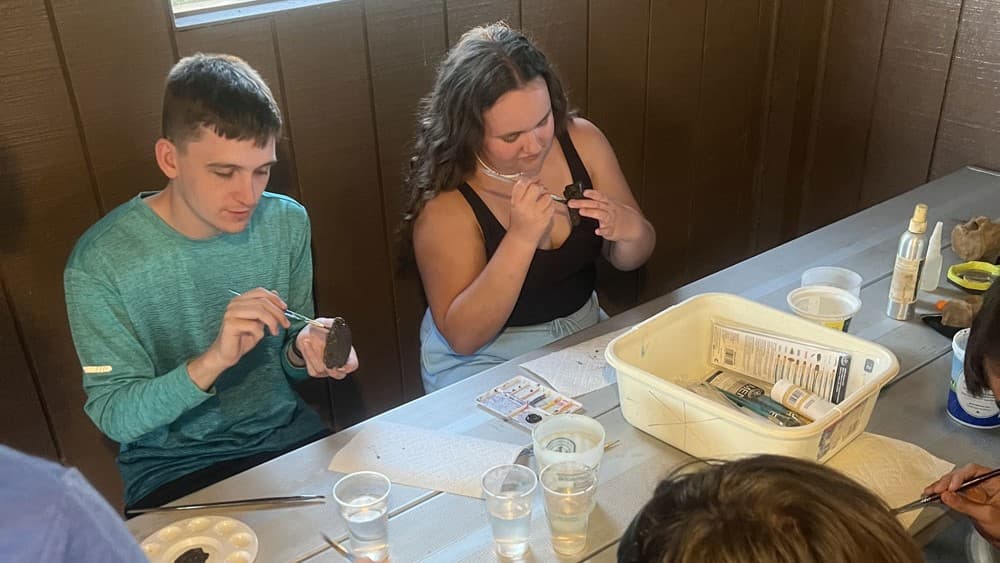
M 538 470 L 560 461 L 597 467 L 604 456 L 604 427 L 582 414 L 557 414 L 539 422 L 531 431 Z

